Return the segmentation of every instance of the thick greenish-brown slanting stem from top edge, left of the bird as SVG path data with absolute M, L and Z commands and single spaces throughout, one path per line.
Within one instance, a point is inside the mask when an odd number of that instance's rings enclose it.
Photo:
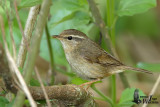
M 29 83 L 31 79 L 35 61 L 39 53 L 42 33 L 43 33 L 43 29 L 47 22 L 47 16 L 49 14 L 51 3 L 52 3 L 51 0 L 44 0 L 42 2 L 41 10 L 40 10 L 39 17 L 37 20 L 37 25 L 35 27 L 35 33 L 34 33 L 33 38 L 31 39 L 31 45 L 30 45 L 31 49 L 29 49 L 28 51 L 28 57 L 26 59 L 26 64 L 25 64 L 24 72 L 23 72 L 24 79 L 27 84 Z M 21 91 L 18 91 L 18 95 L 16 96 L 13 107 L 21 107 L 24 103 L 24 98 L 25 98 L 24 94 Z

